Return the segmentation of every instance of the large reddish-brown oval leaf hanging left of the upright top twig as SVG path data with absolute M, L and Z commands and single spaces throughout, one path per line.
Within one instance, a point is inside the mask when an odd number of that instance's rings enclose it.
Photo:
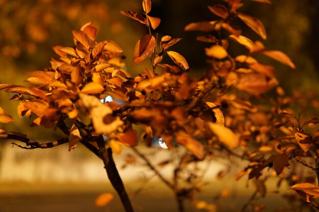
M 155 48 L 155 38 L 151 35 L 143 36 L 136 44 L 134 49 L 133 61 L 136 65 L 149 57 Z

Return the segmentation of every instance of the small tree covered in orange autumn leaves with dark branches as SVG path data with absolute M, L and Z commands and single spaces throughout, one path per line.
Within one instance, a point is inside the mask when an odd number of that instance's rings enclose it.
M 269 0 L 253 1 L 271 4 Z M 0 138 L 20 141 L 25 145 L 13 144 L 25 149 L 69 143 L 72 150 L 82 143 L 103 161 L 125 211 L 134 210 L 112 157 L 112 151 L 118 151 L 121 145 L 130 146 L 171 188 L 178 211 L 185 211 L 186 199 L 199 209 L 213 210 L 211 204 L 195 199 L 200 185 L 194 179 L 200 176 L 196 171 L 188 172 L 187 166 L 218 155 L 237 157 L 247 163 L 236 178 L 248 174 L 256 191 L 242 211 L 262 208 L 253 200 L 267 193 L 265 181 L 273 175 L 279 180 L 278 187 L 286 181 L 303 200 L 318 209 L 313 199 L 319 197 L 319 187 L 315 185 L 319 178 L 316 143 L 319 137 L 312 126 L 319 124 L 319 119 L 308 118 L 302 123 L 301 113 L 294 116 L 293 104 L 303 97 L 298 94 L 286 97 L 275 78 L 275 68 L 261 63 L 257 57 L 273 58 L 292 69 L 295 65 L 285 53 L 268 50 L 262 42 L 243 36 L 233 20 L 240 19 L 261 39 L 267 38 L 260 20 L 238 12 L 244 5 L 241 0 L 224 2 L 208 6 L 219 20 L 193 22 L 184 28 L 210 33 L 197 37 L 209 44 L 205 48 L 209 67 L 199 79 L 190 76 L 187 60 L 171 50 L 181 38 L 169 35 L 158 38 L 153 33 L 161 19 L 149 16 L 150 0 L 143 0 L 143 14 L 121 11 L 148 29 L 148 34 L 135 46 L 133 61 L 139 65 L 149 59 L 151 69 L 143 67 L 135 78 L 124 68 L 121 47 L 114 41 L 97 42 L 97 29 L 91 23 L 73 30 L 74 47 L 55 46 L 60 58 L 52 58 L 51 67 L 34 71 L 25 80 L 34 86 L 0 84 L 0 89 L 15 94 L 11 100 L 20 101 L 19 117 L 35 116 L 32 126 L 58 128 L 66 137 L 41 143 L 20 132 L 5 134 L 1 130 Z M 243 47 L 244 53 L 231 54 L 235 43 Z M 164 63 L 164 57 L 170 58 L 174 65 Z M 267 92 L 274 87 L 276 97 L 268 97 Z M 107 96 L 123 103 L 103 101 Z M 10 123 L 14 119 L 1 109 L 0 122 Z M 173 180 L 159 173 L 134 147 L 139 141 L 138 131 L 148 145 L 155 137 L 165 141 L 168 148 L 187 149 L 178 158 Z M 299 175 L 296 169 L 299 165 L 310 168 L 317 176 Z M 110 199 L 109 195 L 100 197 L 104 203 Z M 302 202 L 296 204 L 298 207 L 290 208 L 291 211 L 308 207 Z

